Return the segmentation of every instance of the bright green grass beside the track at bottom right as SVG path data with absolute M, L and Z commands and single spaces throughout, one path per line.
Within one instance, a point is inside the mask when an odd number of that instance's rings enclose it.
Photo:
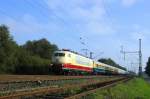
M 99 90 L 89 95 L 90 99 L 150 99 L 150 84 L 135 78 L 115 87 Z

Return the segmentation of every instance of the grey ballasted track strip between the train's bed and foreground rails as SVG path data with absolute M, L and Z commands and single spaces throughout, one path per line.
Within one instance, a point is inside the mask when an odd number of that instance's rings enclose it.
M 3 81 L 0 82 L 0 93 L 10 93 L 15 92 L 17 90 L 28 90 L 39 87 L 61 87 L 68 84 L 78 84 L 78 83 L 86 83 L 90 80 L 103 80 L 109 79 L 113 76 L 51 76 L 48 80 L 38 79 L 38 80 L 21 80 L 21 81 Z

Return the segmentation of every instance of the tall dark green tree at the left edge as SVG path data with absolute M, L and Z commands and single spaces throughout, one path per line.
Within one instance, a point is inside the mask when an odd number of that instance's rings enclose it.
M 16 63 L 17 44 L 9 34 L 8 27 L 0 25 L 0 72 L 13 72 Z

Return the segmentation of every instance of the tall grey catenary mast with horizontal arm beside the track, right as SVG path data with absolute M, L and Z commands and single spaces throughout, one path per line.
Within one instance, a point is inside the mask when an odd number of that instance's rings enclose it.
M 123 46 L 121 46 L 121 53 L 124 54 L 124 60 L 125 55 L 130 53 L 138 53 L 139 55 L 139 76 L 142 75 L 142 51 L 141 51 L 141 39 L 139 39 L 139 50 L 138 51 L 123 51 Z

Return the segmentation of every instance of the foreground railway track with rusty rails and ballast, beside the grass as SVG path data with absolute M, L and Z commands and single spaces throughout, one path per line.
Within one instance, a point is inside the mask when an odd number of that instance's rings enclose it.
M 7 82 L 5 90 L 0 91 L 0 99 L 13 99 L 13 98 L 34 98 L 34 99 L 64 99 L 84 91 L 93 90 L 97 87 L 104 86 L 105 84 L 115 83 L 124 80 L 124 77 L 113 76 L 86 76 L 86 77 L 67 77 L 60 79 L 40 80 L 40 82 Z M 25 82 L 25 83 L 24 83 Z M 17 83 L 17 84 L 15 84 Z M 1 82 L 4 84 L 4 82 Z M 11 86 L 19 86 L 9 88 Z M 24 87 L 20 86 L 23 84 Z M 30 86 L 29 86 L 30 85 Z M 35 86 L 33 86 L 35 85 Z M 28 86 L 28 87 L 27 87 Z M 4 88 L 3 88 L 4 89 Z M 13 89 L 13 90 L 12 90 Z M 71 99 L 71 98 L 70 98 Z

